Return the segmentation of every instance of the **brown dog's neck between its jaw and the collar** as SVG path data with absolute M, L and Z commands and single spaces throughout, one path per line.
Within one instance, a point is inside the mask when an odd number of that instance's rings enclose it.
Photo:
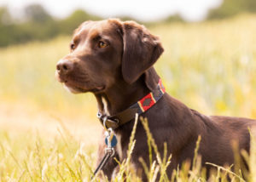
M 113 85 L 112 88 L 108 88 L 104 93 L 95 95 L 99 111 L 108 116 L 113 116 L 136 103 L 149 92 L 144 77 L 141 77 L 132 84 L 125 81 L 119 82 Z

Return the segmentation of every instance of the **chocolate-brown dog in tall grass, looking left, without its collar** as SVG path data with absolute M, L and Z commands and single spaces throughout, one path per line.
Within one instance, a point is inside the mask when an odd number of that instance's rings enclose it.
M 57 79 L 73 93 L 92 92 L 99 111 L 105 116 L 119 115 L 158 88 L 160 77 L 153 65 L 164 49 L 158 37 L 136 22 L 86 21 L 74 32 L 70 47 L 70 54 L 57 64 Z M 172 163 L 167 169 L 169 174 L 183 161 L 193 158 L 199 135 L 203 165 L 205 162 L 232 164 L 231 140 L 239 142 L 239 149 L 249 151 L 248 127 L 255 123 L 246 118 L 204 116 L 169 94 L 164 94 L 141 115 L 148 118 L 148 126 L 161 154 L 164 142 L 169 154 L 172 153 Z M 133 117 L 114 129 L 118 139 L 115 157 L 119 161 L 126 157 Z M 131 162 L 140 169 L 139 157 L 148 162 L 147 137 L 141 122 L 137 124 L 135 139 L 137 143 Z M 104 155 L 103 140 L 102 137 L 98 162 Z M 102 171 L 111 179 L 117 166 L 111 159 Z M 144 173 L 142 178 L 146 180 Z

